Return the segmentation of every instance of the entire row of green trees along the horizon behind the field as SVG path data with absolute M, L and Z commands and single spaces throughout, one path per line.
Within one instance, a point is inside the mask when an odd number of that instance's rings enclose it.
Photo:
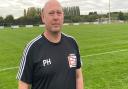
M 0 26 L 11 26 L 11 25 L 39 25 L 41 21 L 41 8 L 30 7 L 27 10 L 24 9 L 24 16 L 14 19 L 13 15 L 7 15 L 5 18 L 0 16 Z M 88 15 L 80 15 L 80 8 L 78 6 L 64 7 L 64 22 L 65 23 L 76 23 L 76 22 L 95 22 L 104 21 L 108 18 L 107 14 L 98 14 L 96 11 L 89 12 Z M 111 12 L 111 20 L 123 20 L 128 21 L 128 13 L 123 12 Z

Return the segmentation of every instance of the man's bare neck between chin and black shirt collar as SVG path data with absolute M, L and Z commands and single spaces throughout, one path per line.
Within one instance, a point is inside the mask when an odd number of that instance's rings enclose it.
M 45 36 L 50 42 L 53 42 L 53 43 L 58 43 L 58 42 L 60 42 L 60 40 L 61 40 L 61 32 L 58 32 L 58 33 L 51 33 L 51 32 L 45 31 L 45 32 L 44 32 L 44 36 Z

